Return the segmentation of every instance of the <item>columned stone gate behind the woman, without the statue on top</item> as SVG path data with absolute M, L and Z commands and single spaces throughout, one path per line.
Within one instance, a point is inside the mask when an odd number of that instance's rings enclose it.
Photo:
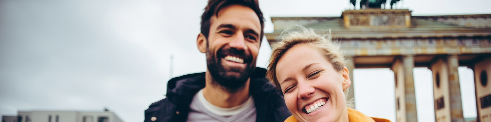
M 477 122 L 491 122 L 491 15 L 412 16 L 409 9 L 345 10 L 341 17 L 272 17 L 274 45 L 294 24 L 331 29 L 345 50 L 349 72 L 390 68 L 394 72 L 396 121 L 417 122 L 413 68 L 433 72 L 436 122 L 464 122 L 459 66 L 474 71 Z M 273 46 L 272 46 L 273 47 Z M 354 74 L 356 75 L 356 74 Z M 353 81 L 350 98 L 355 98 Z

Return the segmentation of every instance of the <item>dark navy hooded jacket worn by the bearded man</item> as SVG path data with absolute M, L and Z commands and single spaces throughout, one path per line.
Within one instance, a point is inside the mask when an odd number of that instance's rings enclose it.
M 256 122 L 283 122 L 292 114 L 285 105 L 282 92 L 265 78 L 265 74 L 266 69 L 256 67 L 250 77 L 249 93 L 256 106 Z M 205 73 L 169 80 L 167 98 L 152 103 L 145 110 L 145 122 L 186 122 L 194 94 L 204 87 Z

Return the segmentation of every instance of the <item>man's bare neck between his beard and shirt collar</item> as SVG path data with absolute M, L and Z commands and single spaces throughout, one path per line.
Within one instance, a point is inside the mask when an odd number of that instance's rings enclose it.
M 222 108 L 230 108 L 241 105 L 249 99 L 250 78 L 247 79 L 244 87 L 237 90 L 227 90 L 223 86 L 214 84 L 212 80 L 211 74 L 207 71 L 206 86 L 203 88 L 203 95 L 211 104 Z

